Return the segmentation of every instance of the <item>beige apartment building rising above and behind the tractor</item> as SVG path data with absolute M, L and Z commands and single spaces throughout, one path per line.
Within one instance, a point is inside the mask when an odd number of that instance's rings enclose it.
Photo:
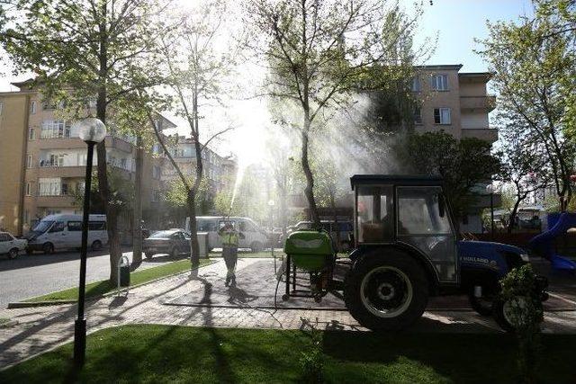
M 460 72 L 462 65 L 416 67 L 412 82 L 420 106 L 414 113 L 417 132 L 444 129 L 455 138 L 482 138 L 493 143 L 498 130 L 489 113 L 496 97 L 487 93 L 490 72 Z

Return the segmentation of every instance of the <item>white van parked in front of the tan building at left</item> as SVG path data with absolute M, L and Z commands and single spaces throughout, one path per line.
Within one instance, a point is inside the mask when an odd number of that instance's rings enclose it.
M 49 215 L 41 219 L 26 235 L 26 252 L 43 251 L 51 254 L 57 249 L 79 248 L 82 246 L 82 215 Z M 88 246 L 93 251 L 108 244 L 106 215 L 88 216 Z

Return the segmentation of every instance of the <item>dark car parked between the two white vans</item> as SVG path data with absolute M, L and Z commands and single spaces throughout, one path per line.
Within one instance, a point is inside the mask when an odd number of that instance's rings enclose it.
M 190 233 L 182 228 L 154 232 L 144 239 L 142 251 L 147 259 L 157 254 L 168 254 L 172 257 L 190 255 Z

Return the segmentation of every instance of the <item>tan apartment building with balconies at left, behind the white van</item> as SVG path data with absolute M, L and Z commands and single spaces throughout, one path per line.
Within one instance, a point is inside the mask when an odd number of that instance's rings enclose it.
M 30 81 L 13 85 L 20 91 L 0 93 L 0 227 L 21 235 L 46 215 L 81 212 L 74 195 L 85 187 L 86 145 L 71 121 L 59 117 L 60 106 L 42 99 L 40 88 Z M 175 127 L 160 115 L 157 123 Z M 127 180 L 134 180 L 135 141 L 113 132 L 105 138 L 108 165 Z M 160 201 L 163 162 L 158 154 L 144 156 L 144 211 Z M 130 227 L 130 218 L 121 221 L 121 228 Z

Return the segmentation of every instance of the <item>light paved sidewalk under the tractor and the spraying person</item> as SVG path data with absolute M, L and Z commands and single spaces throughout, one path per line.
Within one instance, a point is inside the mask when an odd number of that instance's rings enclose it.
M 270 259 L 240 259 L 237 290 L 224 288 L 226 269 L 223 261 L 219 260 L 202 267 L 197 271 L 197 276 L 185 272 L 130 290 L 124 297 L 91 301 L 86 308 L 89 332 L 138 323 L 297 329 L 310 322 L 322 329 L 365 330 L 343 310 L 254 308 L 249 298 L 257 296 L 257 291 L 253 292 L 249 285 L 244 284 L 256 280 L 267 281 L 268 284 L 274 281 L 273 265 Z M 240 291 L 244 293 L 238 295 Z M 200 300 L 197 299 L 199 293 Z M 226 298 L 231 300 L 229 306 L 217 305 Z M 238 305 L 238 298 L 241 305 Z M 270 298 L 268 293 L 266 298 Z M 178 301 L 180 305 L 174 305 Z M 278 302 L 282 303 L 280 299 Z M 70 341 L 74 335 L 76 306 L 4 309 L 0 311 L 0 317 L 18 321 L 16 326 L 0 328 L 2 369 Z M 479 317 L 462 308 L 427 311 L 411 331 L 500 332 L 490 318 Z M 545 332 L 576 333 L 576 312 L 547 313 Z

